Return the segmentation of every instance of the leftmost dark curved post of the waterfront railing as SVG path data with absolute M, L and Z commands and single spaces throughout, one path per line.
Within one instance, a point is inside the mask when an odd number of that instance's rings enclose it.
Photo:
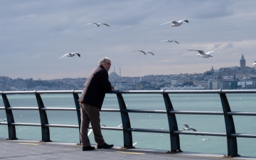
M 11 110 L 8 110 L 9 107 L 11 107 L 9 100 L 5 94 L 2 94 L 2 98 L 4 101 L 4 108 L 6 111 L 6 119 L 8 123 L 8 134 L 9 134 L 9 140 L 17 139 L 16 137 L 16 129 L 14 125 L 10 125 L 11 123 L 14 123 L 14 114 Z

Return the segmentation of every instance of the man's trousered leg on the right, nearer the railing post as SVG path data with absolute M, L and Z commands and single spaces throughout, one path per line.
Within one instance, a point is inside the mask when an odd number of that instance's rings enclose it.
M 97 146 L 102 146 L 105 144 L 105 141 L 102 136 L 101 128 L 100 128 L 100 109 L 94 107 L 92 105 L 85 104 L 85 112 L 90 119 L 92 124 L 92 131 L 95 137 L 95 142 Z

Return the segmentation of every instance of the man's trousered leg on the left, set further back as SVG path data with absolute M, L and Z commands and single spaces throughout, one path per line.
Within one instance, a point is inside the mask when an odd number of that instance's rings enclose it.
M 82 146 L 90 146 L 90 139 L 87 136 L 88 128 L 90 124 L 90 119 L 85 112 L 85 104 L 80 104 L 80 113 L 81 113 L 81 127 L 80 127 L 80 139 Z

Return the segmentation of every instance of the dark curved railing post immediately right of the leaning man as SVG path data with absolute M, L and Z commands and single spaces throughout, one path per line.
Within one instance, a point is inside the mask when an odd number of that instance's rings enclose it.
M 124 148 L 132 149 L 132 132 L 125 130 L 126 128 L 131 128 L 131 122 L 129 120 L 128 112 L 122 112 L 122 110 L 127 110 L 127 107 L 124 102 L 124 98 L 121 93 L 117 93 L 117 100 L 120 108 L 121 118 L 122 118 L 122 126 L 123 126 L 123 134 L 124 134 Z

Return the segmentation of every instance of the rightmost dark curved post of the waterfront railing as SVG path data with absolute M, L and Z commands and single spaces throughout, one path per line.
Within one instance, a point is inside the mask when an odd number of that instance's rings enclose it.
M 221 92 L 221 91 L 220 91 Z M 220 101 L 223 107 L 223 114 L 225 119 L 225 129 L 227 134 L 228 143 L 228 156 L 235 157 L 240 156 L 238 154 L 238 142 L 236 137 L 230 137 L 230 134 L 235 134 L 235 123 L 232 115 L 227 115 L 227 112 L 231 112 L 228 98 L 225 93 L 220 93 Z

